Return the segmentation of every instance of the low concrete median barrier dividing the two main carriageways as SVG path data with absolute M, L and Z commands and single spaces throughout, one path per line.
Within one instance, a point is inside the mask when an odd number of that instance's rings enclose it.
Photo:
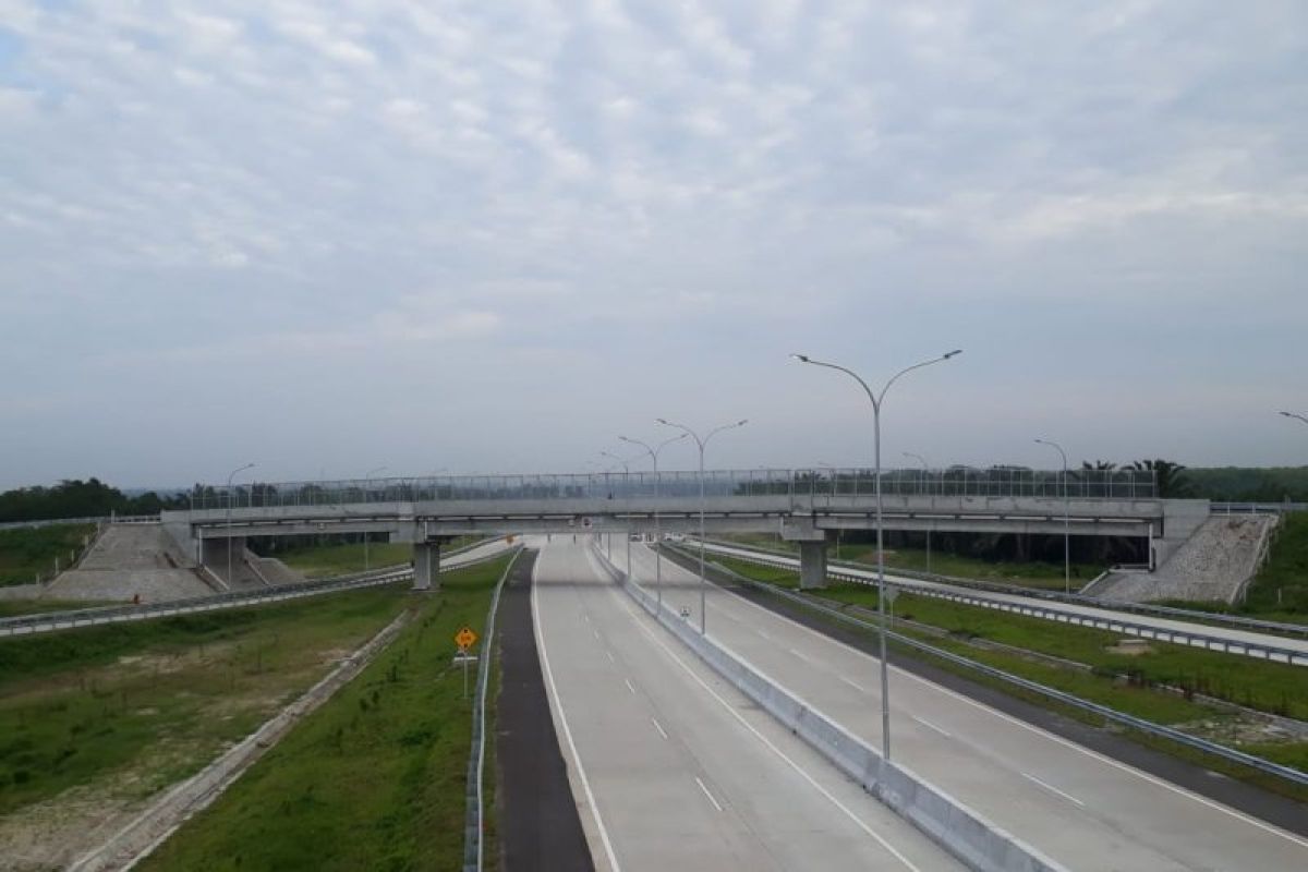
M 863 740 L 814 709 L 802 698 L 756 669 L 730 648 L 700 633 L 638 584 L 627 579 L 598 552 L 600 565 L 646 612 L 695 651 L 740 693 L 808 743 L 863 790 L 906 818 L 931 839 L 981 872 L 1066 872 L 1029 845 L 995 826 L 978 813 L 927 783 L 912 770 L 882 760 Z

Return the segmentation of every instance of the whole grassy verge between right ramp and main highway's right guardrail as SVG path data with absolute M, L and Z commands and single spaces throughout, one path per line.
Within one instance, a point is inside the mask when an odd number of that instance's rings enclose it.
M 747 578 L 787 588 L 798 586 L 797 574 L 789 570 L 723 558 L 717 562 Z M 840 603 L 876 608 L 876 590 L 871 586 L 833 584 L 818 594 Z M 1151 643 L 1147 654 L 1114 654 L 1108 648 L 1121 637 L 1113 633 L 904 592 L 895 600 L 893 613 L 900 621 L 896 630 L 905 635 L 1154 723 L 1180 726 L 1207 722 L 1211 726 L 1209 737 L 1219 741 L 1223 740 L 1223 723 L 1235 732 L 1237 718 L 1214 706 L 1188 699 L 1186 696 L 1150 685 L 1185 688 L 1250 709 L 1308 719 L 1308 680 L 1303 667 L 1159 642 Z M 948 635 L 914 630 L 903 621 L 938 628 Z M 969 641 L 997 642 L 1063 658 L 1091 669 L 1059 667 L 1015 651 L 986 650 Z M 976 677 L 976 673 L 961 667 L 952 668 L 960 675 Z M 1124 681 L 1118 676 L 1129 676 L 1129 680 Z M 1011 692 L 1011 688 L 1002 684 L 997 686 Z M 1036 699 L 1040 701 L 1039 697 Z M 1241 750 L 1308 771 L 1308 743 L 1235 744 Z

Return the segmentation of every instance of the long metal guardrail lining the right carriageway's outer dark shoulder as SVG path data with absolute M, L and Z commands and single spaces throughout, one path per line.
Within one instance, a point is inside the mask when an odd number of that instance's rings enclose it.
M 674 550 L 680 550 L 683 554 L 685 554 L 685 556 L 689 557 L 689 554 L 687 554 L 681 549 L 674 548 Z M 869 624 L 867 621 L 863 621 L 862 618 L 857 618 L 853 614 L 846 614 L 845 612 L 842 612 L 840 609 L 831 608 L 829 605 L 824 605 L 821 603 L 815 603 L 814 600 L 811 600 L 808 597 L 804 597 L 804 596 L 802 596 L 799 594 L 794 594 L 791 591 L 782 590 L 782 588 L 777 587 L 776 584 L 766 584 L 764 582 L 756 582 L 752 578 L 746 578 L 744 575 L 740 575 L 739 573 L 732 573 L 730 569 L 727 569 L 726 566 L 722 566 L 721 563 L 714 562 L 713 566 L 718 571 L 721 571 L 722 574 L 725 574 L 725 575 L 727 575 L 727 577 L 730 577 L 732 579 L 736 579 L 740 583 L 747 584 L 748 587 L 752 587 L 755 590 L 766 591 L 768 594 L 772 594 L 774 596 L 780 596 L 781 599 L 793 601 L 793 603 L 795 603 L 798 605 L 802 605 L 804 608 L 814 609 L 816 612 L 821 612 L 821 613 L 824 613 L 824 614 L 827 614 L 829 617 L 837 618 L 840 621 L 845 621 L 848 624 L 853 624 L 853 625 L 858 626 L 859 629 L 871 630 L 874 633 L 879 631 L 879 628 L 875 624 Z M 1240 763 L 1243 766 L 1248 766 L 1250 769 L 1258 770 L 1258 771 L 1265 773 L 1267 775 L 1274 775 L 1277 778 L 1282 778 L 1284 780 L 1294 782 L 1295 784 L 1308 786 L 1308 773 L 1303 773 L 1303 771 L 1300 771 L 1298 769 L 1292 769 L 1290 766 L 1282 766 L 1281 763 L 1274 763 L 1270 760 L 1264 760 L 1262 757 L 1254 757 L 1253 754 L 1247 754 L 1247 753 L 1244 753 L 1241 750 L 1235 750 L 1233 748 L 1227 748 L 1226 745 L 1219 745 L 1219 744 L 1216 744 L 1214 741 L 1209 741 L 1206 739 L 1199 739 L 1197 736 L 1190 736 L 1190 735 L 1180 732 L 1177 729 L 1172 729 L 1171 727 L 1164 727 L 1164 726 L 1156 724 L 1156 723 L 1154 723 L 1151 720 L 1144 720 L 1142 718 L 1137 718 L 1134 715 L 1129 715 L 1129 714 L 1126 714 L 1124 711 L 1117 711 L 1116 709 L 1109 709 L 1108 706 L 1103 706 L 1103 705 L 1100 705 L 1097 702 L 1090 702 L 1088 699 L 1082 699 L 1080 697 L 1075 697 L 1075 696 L 1073 696 L 1070 693 L 1065 693 L 1062 690 L 1057 690 L 1057 689 L 1050 688 L 1048 685 L 1042 685 L 1042 684 L 1040 684 L 1037 681 L 1031 681 L 1029 679 L 1023 679 L 1020 676 L 1015 676 L 1015 675 L 1012 675 L 1010 672 L 1005 672 L 1003 669 L 997 669 L 997 668 L 994 668 L 991 665 L 986 665 L 984 663 L 977 663 L 976 660 L 969 660 L 968 658 L 964 658 L 964 656 L 960 656 L 957 654 L 954 654 L 952 651 L 944 651 L 943 648 L 938 648 L 935 646 L 926 645 L 925 642 L 920 642 L 918 639 L 903 635 L 900 633 L 895 633 L 893 630 L 887 631 L 886 637 L 887 637 L 887 639 L 893 639 L 896 643 L 904 645 L 904 646 L 906 646 L 909 648 L 913 648 L 916 651 L 920 651 L 922 654 L 927 654 L 927 655 L 934 656 L 934 658 L 940 658 L 940 659 L 947 660 L 950 663 L 954 663 L 956 665 L 961 665 L 961 667 L 965 667 L 965 668 L 972 669 L 974 672 L 980 672 L 982 675 L 986 675 L 986 676 L 989 676 L 991 679 L 998 679 L 999 681 L 1003 681 L 1006 684 L 1011 684 L 1011 685 L 1022 688 L 1024 690 L 1029 690 L 1029 692 L 1037 693 L 1040 696 L 1048 697 L 1049 699 L 1054 699 L 1056 702 L 1059 702 L 1062 705 L 1070 706 L 1073 709 L 1079 709 L 1082 711 L 1087 711 L 1087 713 L 1095 714 L 1095 715 L 1097 715 L 1097 716 L 1100 716 L 1100 718 L 1103 718 L 1105 720 L 1110 720 L 1110 722 L 1121 724 L 1124 727 L 1129 727 L 1131 729 L 1138 729 L 1139 732 L 1144 732 L 1144 733 L 1148 733 L 1148 735 L 1152 735 L 1152 736 L 1158 736 L 1160 739 L 1165 739 L 1168 741 L 1173 741 L 1176 744 L 1185 745 L 1188 748 L 1193 748 L 1196 750 L 1201 750 L 1201 752 L 1207 753 L 1207 754 L 1213 754 L 1214 757 L 1220 757 L 1220 758 L 1227 760 L 1227 761 L 1233 762 L 1233 763 Z

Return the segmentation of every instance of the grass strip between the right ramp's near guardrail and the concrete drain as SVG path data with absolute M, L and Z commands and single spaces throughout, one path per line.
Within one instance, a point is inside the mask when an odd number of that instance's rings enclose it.
M 794 573 L 778 577 L 770 567 L 753 566 L 743 561 L 719 560 L 723 566 L 747 578 L 795 586 Z M 876 588 L 870 584 L 832 584 L 818 592 L 825 599 L 853 603 L 865 608 L 876 608 Z M 1107 630 L 1045 621 L 1022 614 L 1010 614 L 995 609 L 948 603 L 929 596 L 900 592 L 895 600 L 893 612 L 897 617 L 918 621 L 947 630 L 960 641 L 980 638 L 999 642 L 1039 654 L 1053 655 L 1083 663 L 1093 669 L 1091 685 L 1078 680 L 1078 675 L 1066 669 L 1053 668 L 1057 682 L 1053 686 L 1075 693 L 1093 701 L 1116 698 L 1116 676 L 1130 676 L 1139 685 L 1169 685 L 1216 697 L 1260 711 L 1287 715 L 1308 720 L 1308 675 L 1303 667 L 1283 663 L 1252 660 L 1233 654 L 1203 651 L 1184 645 L 1151 642 L 1148 654 L 1122 655 L 1105 648 L 1113 646 L 1121 637 Z M 933 642 L 935 645 L 937 642 Z M 942 645 L 942 647 L 946 647 Z M 952 650 L 952 648 L 951 648 Z M 967 646 L 971 659 L 985 660 L 991 652 Z M 984 656 L 985 655 L 985 656 Z M 1006 655 L 1008 656 L 1008 655 Z M 1020 658 L 1018 658 L 1020 660 Z M 1045 668 L 1045 667 L 1042 667 Z M 1104 685 L 1108 694 L 1104 699 L 1086 697 L 1083 690 L 1095 684 Z M 1177 698 L 1172 693 L 1154 693 L 1167 699 Z M 1120 709 L 1142 718 L 1158 719 L 1159 723 L 1180 723 L 1189 719 L 1185 710 L 1163 705 L 1167 711 L 1144 711 L 1142 697 L 1131 697 L 1133 707 Z M 1118 707 L 1113 705 L 1113 707 Z M 1203 716 L 1203 713 L 1196 713 Z

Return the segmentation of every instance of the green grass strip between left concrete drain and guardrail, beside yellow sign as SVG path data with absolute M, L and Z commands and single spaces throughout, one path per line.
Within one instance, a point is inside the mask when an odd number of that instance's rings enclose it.
M 485 635 L 505 565 L 445 575 L 362 675 L 139 868 L 462 868 L 471 701 L 453 635 L 463 624 Z

